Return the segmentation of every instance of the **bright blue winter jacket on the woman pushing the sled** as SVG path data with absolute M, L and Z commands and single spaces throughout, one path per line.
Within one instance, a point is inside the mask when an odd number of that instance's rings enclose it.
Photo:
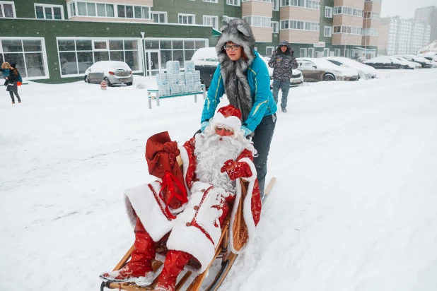
M 274 114 L 277 109 L 272 91 L 270 91 L 269 70 L 257 52 L 255 52 L 255 59 L 252 61 L 252 64 L 247 68 L 247 81 L 250 86 L 253 106 L 247 120 L 243 122 L 243 125 L 245 125 L 247 129 L 255 131 L 261 119 L 264 116 Z M 225 86 L 223 85 L 219 64 L 212 78 L 211 85 L 209 85 L 202 112 L 202 119 L 200 121 L 201 123 L 214 117 L 214 112 L 216 112 L 216 107 L 219 105 L 220 97 L 222 97 L 224 93 Z

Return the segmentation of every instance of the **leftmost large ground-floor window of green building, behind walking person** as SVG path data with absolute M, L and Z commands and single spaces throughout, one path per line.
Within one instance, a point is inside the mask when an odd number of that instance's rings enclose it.
M 4 61 L 16 63 L 24 78 L 49 78 L 44 38 L 0 37 L 0 63 Z

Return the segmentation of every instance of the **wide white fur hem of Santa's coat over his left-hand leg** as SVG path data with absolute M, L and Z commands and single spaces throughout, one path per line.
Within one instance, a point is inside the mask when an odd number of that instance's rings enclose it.
M 159 182 L 151 182 L 150 185 L 155 189 L 156 194 L 158 194 L 161 189 Z M 141 223 L 154 242 L 158 242 L 167 232 L 172 230 L 173 225 L 175 225 L 174 220 L 168 220 L 163 214 L 161 207 L 156 202 L 156 198 L 147 184 L 124 191 L 124 196 L 126 197 L 125 203 L 128 214 L 129 211 L 132 213 L 132 209 L 135 210 L 136 215 L 138 215 L 139 220 L 141 220 Z M 131 223 L 133 222 L 133 217 L 132 214 L 129 215 Z

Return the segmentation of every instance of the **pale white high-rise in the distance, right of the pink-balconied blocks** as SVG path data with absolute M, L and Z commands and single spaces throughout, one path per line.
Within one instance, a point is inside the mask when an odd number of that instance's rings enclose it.
M 431 26 L 414 19 L 400 19 L 399 16 L 380 20 L 378 53 L 417 54 L 430 42 Z

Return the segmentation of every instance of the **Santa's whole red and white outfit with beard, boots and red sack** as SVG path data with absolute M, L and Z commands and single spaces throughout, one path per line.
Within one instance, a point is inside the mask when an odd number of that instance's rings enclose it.
M 261 200 L 252 162 L 256 151 L 240 126 L 240 110 L 228 105 L 218 110 L 205 133 L 198 133 L 180 147 L 167 132 L 148 139 L 148 169 L 160 179 L 125 191 L 135 232 L 132 259 L 120 271 L 103 273 L 100 278 L 150 285 L 151 261 L 160 254 L 165 261 L 155 290 L 174 290 L 177 275 L 184 268 L 195 274 L 206 270 L 219 244 L 223 221 L 231 211 L 233 230 L 240 203 L 243 227 L 240 233 L 230 232 L 229 246 L 235 254 L 244 250 L 255 237 Z M 222 136 L 219 131 L 232 135 Z M 177 164 L 178 155 L 182 169 Z M 247 187 L 243 198 L 242 183 Z

